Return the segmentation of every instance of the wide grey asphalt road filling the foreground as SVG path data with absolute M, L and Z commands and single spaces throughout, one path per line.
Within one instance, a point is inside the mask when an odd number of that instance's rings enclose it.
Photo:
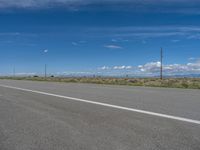
M 200 120 L 199 90 L 0 80 L 0 150 L 200 150 L 178 117 Z

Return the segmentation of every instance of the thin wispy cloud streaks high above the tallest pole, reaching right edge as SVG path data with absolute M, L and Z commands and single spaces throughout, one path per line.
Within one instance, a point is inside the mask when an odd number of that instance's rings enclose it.
M 94 35 L 97 35 L 97 37 L 109 37 L 114 45 L 116 43 L 130 42 L 134 39 L 141 40 L 143 44 L 146 44 L 147 39 L 166 37 L 170 37 L 170 41 L 176 43 L 182 39 L 200 39 L 199 32 L 200 26 L 125 26 L 88 29 L 88 35 L 92 37 Z

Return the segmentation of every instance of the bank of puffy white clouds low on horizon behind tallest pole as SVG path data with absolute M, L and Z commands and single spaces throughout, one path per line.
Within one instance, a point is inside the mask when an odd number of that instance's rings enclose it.
M 101 67 L 100 69 L 109 74 L 120 75 L 138 75 L 138 76 L 156 76 L 160 73 L 161 63 L 159 61 L 149 62 L 138 66 L 114 66 Z M 167 64 L 163 65 L 163 72 L 165 75 L 187 75 L 200 74 L 200 60 L 187 64 Z

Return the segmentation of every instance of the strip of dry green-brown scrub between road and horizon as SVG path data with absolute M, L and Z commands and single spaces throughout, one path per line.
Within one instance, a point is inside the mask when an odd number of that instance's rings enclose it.
M 0 77 L 0 79 L 200 89 L 200 78 Z

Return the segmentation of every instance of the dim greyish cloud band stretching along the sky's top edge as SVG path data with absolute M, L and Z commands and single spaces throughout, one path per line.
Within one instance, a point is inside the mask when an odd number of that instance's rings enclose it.
M 85 6 L 134 8 L 132 11 L 199 13 L 199 0 L 0 0 L 0 8 L 52 8 L 65 6 L 78 10 Z M 159 6 L 159 7 L 158 7 Z M 179 7 L 177 7 L 179 6 Z

